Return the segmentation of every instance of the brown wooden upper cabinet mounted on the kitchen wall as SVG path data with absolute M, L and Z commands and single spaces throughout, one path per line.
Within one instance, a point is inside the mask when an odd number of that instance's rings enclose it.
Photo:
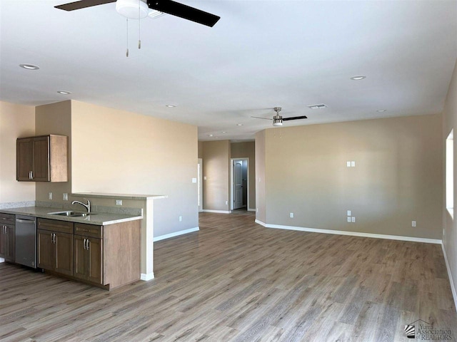
M 16 180 L 67 182 L 68 140 L 65 135 L 18 138 L 16 142 Z

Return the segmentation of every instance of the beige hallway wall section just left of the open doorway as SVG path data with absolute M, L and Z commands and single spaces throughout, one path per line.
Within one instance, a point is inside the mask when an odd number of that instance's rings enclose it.
M 203 176 L 203 209 L 229 211 L 229 140 L 203 142 Z

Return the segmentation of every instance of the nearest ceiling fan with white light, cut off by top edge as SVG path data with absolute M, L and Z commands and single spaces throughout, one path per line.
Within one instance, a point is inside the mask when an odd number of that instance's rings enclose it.
M 74 11 L 76 9 L 85 9 L 86 7 L 98 6 L 116 2 L 116 11 L 129 19 L 143 19 L 151 16 L 152 12 L 160 12 L 179 16 L 180 18 L 195 21 L 198 24 L 213 27 L 220 16 L 195 9 L 194 7 L 180 4 L 172 0 L 81 0 L 55 6 L 56 9 L 65 11 Z

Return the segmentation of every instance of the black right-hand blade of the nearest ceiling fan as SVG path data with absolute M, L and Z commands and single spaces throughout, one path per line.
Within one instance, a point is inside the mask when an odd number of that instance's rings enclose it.
M 172 16 L 179 16 L 180 18 L 210 27 L 213 27 L 221 19 L 220 16 L 215 16 L 214 14 L 171 0 L 148 0 L 147 2 L 150 9 L 171 14 Z

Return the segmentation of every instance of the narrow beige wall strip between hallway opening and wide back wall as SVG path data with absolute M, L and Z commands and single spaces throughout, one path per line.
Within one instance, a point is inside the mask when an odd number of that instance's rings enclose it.
M 266 130 L 256 133 L 256 219 L 266 223 Z

